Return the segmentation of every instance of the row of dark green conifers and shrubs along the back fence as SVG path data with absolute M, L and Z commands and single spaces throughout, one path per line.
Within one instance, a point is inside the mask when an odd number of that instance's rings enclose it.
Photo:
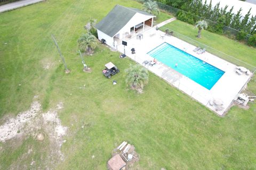
M 227 30 L 225 28 L 230 27 L 238 30 L 236 39 L 246 40 L 251 46 L 256 45 L 256 15 L 251 16 L 251 9 L 245 16 L 242 16 L 242 8 L 234 13 L 234 6 L 228 10 L 227 5 L 220 7 L 218 3 L 213 6 L 212 1 L 209 4 L 203 0 L 156 1 L 180 9 L 175 15 L 181 21 L 195 24 L 199 20 L 206 19 L 209 21 L 208 31 L 219 34 L 229 33 L 225 32 Z

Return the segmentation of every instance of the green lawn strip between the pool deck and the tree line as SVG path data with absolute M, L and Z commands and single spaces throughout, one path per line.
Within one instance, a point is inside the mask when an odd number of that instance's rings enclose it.
M 252 71 L 256 69 L 256 48 L 249 47 L 243 43 L 239 43 L 238 41 L 205 30 L 202 31 L 202 38 L 199 39 L 196 37 L 198 29 L 195 28 L 194 25 L 190 25 L 186 22 L 182 22 L 179 20 L 175 20 L 169 24 L 164 25 L 164 27 L 161 28 L 161 30 L 163 31 L 165 31 L 166 29 L 173 30 L 175 37 L 185 40 L 195 46 L 199 46 L 202 48 L 205 47 L 208 52 L 222 57 L 227 61 L 230 61 L 237 65 L 243 65 L 248 69 L 251 69 Z M 215 50 L 207 46 L 212 47 Z M 220 53 L 219 51 L 222 53 Z M 233 56 L 238 60 L 248 63 L 250 65 L 235 60 L 230 56 Z

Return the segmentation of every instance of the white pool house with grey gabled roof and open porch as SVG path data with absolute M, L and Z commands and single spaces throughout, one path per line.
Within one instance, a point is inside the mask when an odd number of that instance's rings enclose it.
M 95 28 L 102 43 L 116 48 L 122 40 L 153 27 L 154 17 L 137 8 L 116 5 Z

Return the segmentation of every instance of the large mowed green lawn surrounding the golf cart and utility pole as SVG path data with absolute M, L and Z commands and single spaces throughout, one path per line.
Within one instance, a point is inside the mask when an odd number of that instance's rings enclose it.
M 135 63 L 102 45 L 85 57 L 92 73 L 82 72 L 76 40 L 91 17 L 99 21 L 116 4 L 141 7 L 130 0 L 47 1 L 0 14 L 0 117 L 25 111 L 35 95 L 44 111 L 62 101 L 59 116 L 69 130 L 65 160 L 55 169 L 106 169 L 111 151 L 124 140 L 140 157 L 133 169 L 255 169 L 255 104 L 248 110 L 232 107 L 221 118 L 151 73 L 139 95 L 125 85 L 124 70 Z M 110 80 L 101 74 L 109 61 L 121 70 Z M 51 67 L 44 70 L 47 63 Z M 249 88 L 256 94 L 255 79 Z M 1 169 L 17 162 L 29 168 L 33 160 L 30 168 L 47 165 L 47 141 L 44 146 L 32 137 L 17 147 L 8 144 L 0 143 Z M 27 156 L 29 148 L 36 152 Z

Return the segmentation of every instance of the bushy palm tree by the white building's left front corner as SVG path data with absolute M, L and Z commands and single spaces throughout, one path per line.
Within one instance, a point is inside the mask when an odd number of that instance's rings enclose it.
M 93 49 L 97 47 L 97 40 L 91 33 L 83 33 L 77 40 L 78 48 L 81 52 L 92 53 Z

